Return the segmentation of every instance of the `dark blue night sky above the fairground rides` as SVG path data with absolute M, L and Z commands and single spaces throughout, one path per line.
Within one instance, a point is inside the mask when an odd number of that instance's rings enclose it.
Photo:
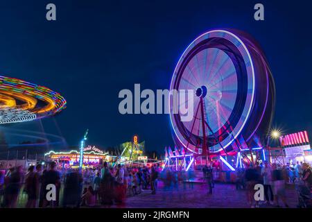
M 46 21 L 55 3 L 57 21 Z M 185 47 L 212 28 L 236 28 L 261 44 L 275 78 L 275 126 L 312 133 L 312 23 L 307 1 L 1 1 L 0 74 L 50 87 L 67 109 L 44 130 L 78 144 L 115 146 L 139 135 L 148 150 L 173 144 L 168 115 L 121 115 L 121 89 L 168 88 Z M 56 123 L 56 125 L 55 125 Z M 25 123 L 40 128 L 39 123 Z M 55 126 L 58 126 L 56 128 Z M 17 127 L 17 126 L 10 126 Z M 311 136 L 310 136 L 311 137 Z

